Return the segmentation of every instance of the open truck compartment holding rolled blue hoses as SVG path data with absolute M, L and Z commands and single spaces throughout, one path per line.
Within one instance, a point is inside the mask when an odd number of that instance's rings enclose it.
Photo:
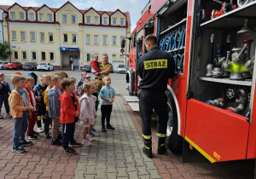
M 183 74 L 187 6 L 187 0 L 178 0 L 157 14 L 160 49 L 172 53 L 177 74 Z

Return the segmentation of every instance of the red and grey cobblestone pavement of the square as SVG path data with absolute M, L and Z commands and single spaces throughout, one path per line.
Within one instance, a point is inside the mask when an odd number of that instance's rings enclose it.
M 79 78 L 79 72 L 72 75 Z M 12 153 L 12 119 L 0 120 L 0 178 L 253 178 L 253 160 L 218 164 L 182 163 L 180 153 L 157 155 L 155 119 L 153 119 L 154 158 L 143 155 L 141 118 L 123 98 L 127 95 L 125 76 L 112 74 L 116 96 L 111 123 L 116 130 L 102 133 L 100 110 L 96 119 L 96 141 L 91 147 L 79 147 L 77 155 L 63 153 L 50 145 L 43 135 L 26 147 L 26 153 Z M 7 79 L 9 80 L 9 79 Z M 3 112 L 3 109 L 2 109 Z M 75 139 L 82 141 L 82 126 L 77 124 Z

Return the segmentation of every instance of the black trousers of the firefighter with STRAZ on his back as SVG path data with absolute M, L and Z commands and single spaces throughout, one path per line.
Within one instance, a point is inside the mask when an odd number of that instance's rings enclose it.
M 166 137 L 168 111 L 165 91 L 141 90 L 139 107 L 143 124 L 143 138 L 151 139 L 151 118 L 153 108 L 154 112 L 158 115 L 157 136 Z

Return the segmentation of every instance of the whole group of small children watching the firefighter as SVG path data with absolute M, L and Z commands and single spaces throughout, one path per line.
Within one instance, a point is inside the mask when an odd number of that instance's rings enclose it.
M 76 153 L 73 147 L 81 147 L 82 144 L 91 146 L 90 141 L 94 141 L 91 131 L 99 105 L 98 95 L 102 98 L 102 132 L 106 132 L 106 128 L 114 130 L 110 124 L 115 95 L 113 87 L 110 86 L 111 78 L 105 76 L 102 79 L 105 85 L 99 94 L 96 90 L 98 88 L 96 80 L 91 80 L 86 73 L 82 73 L 81 76 L 82 83 L 75 85 L 76 79 L 68 78 L 66 72 L 55 73 L 55 75 L 43 74 L 39 77 L 40 84 L 35 85 L 34 78 L 15 74 L 11 78 L 15 89 L 9 95 L 9 84 L 3 81 L 4 75 L 0 73 L 0 99 L 2 97 L 5 99 L 4 96 L 7 95 L 9 100 L 7 104 L 15 120 L 13 152 L 25 152 L 24 147 L 32 145 L 32 141 L 26 138 L 37 139 L 39 133 L 43 131 L 46 138 L 52 139 L 52 145 L 62 145 L 65 153 Z M 0 103 L 1 107 L 2 103 Z M 11 117 L 7 106 L 5 106 L 7 117 Z M 106 127 L 105 119 L 107 119 Z M 74 140 L 75 125 L 79 120 L 84 125 L 82 143 Z M 38 132 L 33 130 L 35 124 L 38 125 Z M 52 134 L 49 132 L 50 127 Z

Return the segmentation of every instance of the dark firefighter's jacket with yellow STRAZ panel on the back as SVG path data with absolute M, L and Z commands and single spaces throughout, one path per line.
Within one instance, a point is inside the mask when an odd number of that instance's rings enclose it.
M 166 91 L 168 78 L 173 78 L 175 72 L 171 53 L 151 48 L 138 61 L 137 74 L 142 78 L 141 89 Z

